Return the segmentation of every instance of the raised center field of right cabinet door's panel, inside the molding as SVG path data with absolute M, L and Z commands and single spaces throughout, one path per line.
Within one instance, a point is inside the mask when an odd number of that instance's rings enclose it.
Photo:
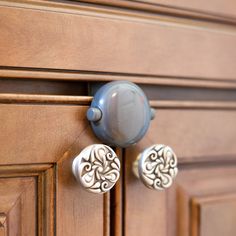
M 192 200 L 191 207 L 193 236 L 234 236 L 236 234 L 235 194 L 196 197 Z

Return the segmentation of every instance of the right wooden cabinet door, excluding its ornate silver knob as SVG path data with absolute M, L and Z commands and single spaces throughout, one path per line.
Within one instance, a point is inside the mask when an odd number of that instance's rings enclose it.
M 126 150 L 125 235 L 234 236 L 236 112 L 180 105 L 157 108 L 149 133 Z M 132 173 L 138 153 L 155 143 L 171 146 L 179 160 L 164 191 L 146 188 Z

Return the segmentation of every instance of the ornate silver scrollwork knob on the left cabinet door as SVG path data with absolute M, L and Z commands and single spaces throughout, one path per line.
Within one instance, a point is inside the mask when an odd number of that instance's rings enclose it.
M 72 171 L 86 190 L 105 193 L 119 179 L 120 161 L 110 147 L 94 144 L 83 149 L 74 159 Z

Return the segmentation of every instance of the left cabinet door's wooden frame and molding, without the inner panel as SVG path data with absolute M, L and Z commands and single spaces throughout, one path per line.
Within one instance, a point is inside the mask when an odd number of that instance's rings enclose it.
M 53 235 L 57 232 L 57 235 L 79 233 L 108 236 L 109 196 L 87 193 L 75 181 L 71 171 L 72 160 L 81 149 L 98 142 L 92 131 L 86 129 L 87 107 L 36 104 L 2 106 L 6 109 L 0 109 L 2 114 L 8 117 L 2 120 L 4 126 L 1 126 L 4 130 L 1 140 L 3 148 L 0 175 L 4 178 L 11 177 L 12 181 L 12 177 L 16 176 L 37 177 L 37 197 L 35 193 L 33 199 L 37 200 L 35 204 L 37 203 L 38 234 Z M 51 164 L 40 164 L 47 162 L 54 162 L 55 170 Z M 28 165 L 22 165 L 23 163 Z M 6 199 L 6 196 L 2 197 Z M 54 228 L 55 224 L 57 229 Z M 22 223 L 17 225 L 21 226 Z

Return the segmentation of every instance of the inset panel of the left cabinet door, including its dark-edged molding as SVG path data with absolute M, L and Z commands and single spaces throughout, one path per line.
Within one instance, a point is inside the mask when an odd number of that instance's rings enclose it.
M 0 235 L 53 235 L 54 167 L 0 166 Z

